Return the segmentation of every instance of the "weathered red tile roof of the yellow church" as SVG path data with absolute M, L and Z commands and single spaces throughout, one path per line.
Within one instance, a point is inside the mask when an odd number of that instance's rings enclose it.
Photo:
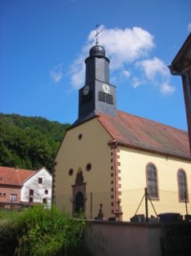
M 121 145 L 191 160 L 188 133 L 181 129 L 122 111 L 117 111 L 116 117 L 96 114 L 102 126 Z

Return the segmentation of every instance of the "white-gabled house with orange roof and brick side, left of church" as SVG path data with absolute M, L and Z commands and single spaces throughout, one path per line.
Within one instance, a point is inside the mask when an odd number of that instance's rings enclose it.
M 46 168 L 38 171 L 0 167 L 0 208 L 52 205 L 53 176 Z

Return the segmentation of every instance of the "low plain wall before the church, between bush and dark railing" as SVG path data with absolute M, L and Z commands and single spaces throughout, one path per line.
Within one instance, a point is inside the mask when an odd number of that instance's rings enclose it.
M 88 221 L 86 242 L 93 256 L 161 256 L 161 223 Z

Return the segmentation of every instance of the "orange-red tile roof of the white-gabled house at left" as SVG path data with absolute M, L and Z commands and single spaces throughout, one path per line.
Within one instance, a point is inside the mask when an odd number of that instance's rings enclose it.
M 0 185 L 22 186 L 36 171 L 0 166 Z

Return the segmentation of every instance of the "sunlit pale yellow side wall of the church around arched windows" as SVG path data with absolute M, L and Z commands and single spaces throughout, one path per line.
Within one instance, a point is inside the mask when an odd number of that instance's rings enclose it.
M 191 214 L 191 163 L 188 161 L 165 157 L 154 153 L 119 148 L 120 177 L 121 177 L 121 207 L 123 221 L 129 221 L 138 209 L 146 187 L 146 165 L 153 163 L 158 172 L 159 200 L 152 200 L 157 214 L 180 213 L 186 214 L 185 204 L 179 201 L 178 170 L 183 169 L 187 176 L 189 202 L 188 213 Z M 150 202 L 149 216 L 155 216 Z M 144 200 L 140 204 L 137 214 L 145 215 Z

